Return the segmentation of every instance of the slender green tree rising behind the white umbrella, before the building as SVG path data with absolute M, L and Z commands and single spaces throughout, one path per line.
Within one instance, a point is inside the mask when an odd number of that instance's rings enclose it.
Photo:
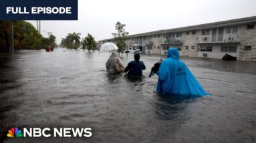
M 114 41 L 116 45 L 118 46 L 118 54 L 120 55 L 120 52 L 124 52 L 126 49 L 126 36 L 129 34 L 129 32 L 126 32 L 124 29 L 126 27 L 125 24 L 120 23 L 119 21 L 116 23 L 115 29 L 117 33 L 112 33 L 114 36 Z

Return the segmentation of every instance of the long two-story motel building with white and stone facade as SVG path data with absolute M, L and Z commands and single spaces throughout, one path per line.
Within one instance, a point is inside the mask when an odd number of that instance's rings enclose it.
M 128 35 L 126 46 L 142 53 L 166 54 L 169 47 L 176 47 L 182 56 L 221 59 L 228 53 L 237 60 L 256 61 L 255 26 L 256 16 L 139 33 Z

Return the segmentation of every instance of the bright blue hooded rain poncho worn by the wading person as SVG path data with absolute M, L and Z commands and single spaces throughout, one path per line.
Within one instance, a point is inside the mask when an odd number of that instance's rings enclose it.
M 158 94 L 168 95 L 209 95 L 197 82 L 185 63 L 180 59 L 178 50 L 170 48 L 167 59 L 162 61 L 158 72 Z

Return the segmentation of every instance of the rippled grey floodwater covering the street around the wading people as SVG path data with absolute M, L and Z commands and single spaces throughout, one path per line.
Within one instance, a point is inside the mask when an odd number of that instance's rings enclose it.
M 156 55 L 141 56 L 146 78 L 132 82 L 106 72 L 109 53 L 65 50 L 0 56 L 3 142 L 256 142 L 255 62 L 184 58 L 212 96 L 180 100 L 155 94 Z M 92 137 L 6 138 L 12 127 L 89 127 Z

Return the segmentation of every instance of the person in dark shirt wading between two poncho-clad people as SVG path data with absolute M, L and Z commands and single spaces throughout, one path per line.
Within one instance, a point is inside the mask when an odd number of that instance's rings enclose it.
M 142 70 L 146 69 L 146 66 L 144 65 L 143 61 L 140 61 L 139 53 L 134 54 L 134 59 L 134 61 L 130 61 L 130 63 L 128 63 L 126 69 L 124 69 L 124 72 L 128 72 L 128 78 L 142 78 Z

